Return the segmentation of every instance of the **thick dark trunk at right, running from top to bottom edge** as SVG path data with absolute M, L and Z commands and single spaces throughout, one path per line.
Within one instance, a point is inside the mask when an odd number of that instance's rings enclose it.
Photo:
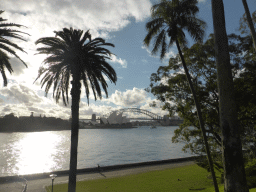
M 233 77 L 222 0 L 212 0 L 219 93 L 225 192 L 249 192 L 246 182 L 240 125 L 237 119 Z

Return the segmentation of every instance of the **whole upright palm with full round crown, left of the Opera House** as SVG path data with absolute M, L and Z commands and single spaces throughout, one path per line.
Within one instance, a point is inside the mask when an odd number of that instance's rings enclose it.
M 114 83 L 117 81 L 117 76 L 115 70 L 106 62 L 112 53 L 103 46 L 114 47 L 114 45 L 106 43 L 102 38 L 92 40 L 89 30 L 83 34 L 82 30 L 64 28 L 63 31 L 54 31 L 54 33 L 56 34 L 55 37 L 44 37 L 35 42 L 46 45 L 37 48 L 38 54 L 48 55 L 43 61 L 43 66 L 39 69 L 37 79 L 44 74 L 41 79 L 41 86 L 45 85 L 46 94 L 53 85 L 53 97 L 55 97 L 56 102 L 62 95 L 66 105 L 68 103 L 70 76 L 72 76 L 72 125 L 68 191 L 74 192 L 76 189 L 81 81 L 85 87 L 88 105 L 90 88 L 95 100 L 102 98 L 101 87 L 108 96 L 108 85 L 103 75 Z M 88 42 L 85 43 L 87 40 Z

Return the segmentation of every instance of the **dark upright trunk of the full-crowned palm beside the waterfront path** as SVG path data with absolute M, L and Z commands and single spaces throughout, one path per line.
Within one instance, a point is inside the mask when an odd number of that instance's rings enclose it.
M 75 77 L 76 78 L 76 77 Z M 78 146 L 78 131 L 79 131 L 79 101 L 81 83 L 79 79 L 74 79 L 72 83 L 72 124 L 71 124 L 71 147 L 70 147 L 70 168 L 69 168 L 69 183 L 68 192 L 76 191 L 76 170 L 77 170 L 77 146 Z

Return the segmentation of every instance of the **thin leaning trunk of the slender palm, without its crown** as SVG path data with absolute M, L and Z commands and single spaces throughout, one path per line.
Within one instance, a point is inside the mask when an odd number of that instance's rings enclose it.
M 219 192 L 219 188 L 218 188 L 215 172 L 214 172 L 214 169 L 213 169 L 212 157 L 211 157 L 211 154 L 210 154 L 210 149 L 209 149 L 209 145 L 208 145 L 207 137 L 206 137 L 206 133 L 205 133 L 205 128 L 204 128 L 204 122 L 203 122 L 203 118 L 202 118 L 201 107 L 200 107 L 200 105 L 198 103 L 198 100 L 197 100 L 197 97 L 196 97 L 196 92 L 194 90 L 194 86 L 192 84 L 191 77 L 189 75 L 188 68 L 186 66 L 186 62 L 185 62 L 184 57 L 182 55 L 182 52 L 181 52 L 178 40 L 176 40 L 176 45 L 177 45 L 177 48 L 178 48 L 178 51 L 179 51 L 179 55 L 180 55 L 180 58 L 181 58 L 181 61 L 182 61 L 182 65 L 183 65 L 184 70 L 185 70 L 185 74 L 186 74 L 186 77 L 187 77 L 187 80 L 188 80 L 188 83 L 189 83 L 190 90 L 191 90 L 191 92 L 193 94 L 193 97 L 194 97 L 194 102 L 196 104 L 197 115 L 198 115 L 198 119 L 199 119 L 200 128 L 201 128 L 201 131 L 202 131 L 202 134 L 203 134 L 203 138 L 204 138 L 205 150 L 206 150 L 207 159 L 208 159 L 208 163 L 209 163 L 211 174 L 212 174 L 212 179 L 213 179 L 213 184 L 214 184 L 215 192 Z

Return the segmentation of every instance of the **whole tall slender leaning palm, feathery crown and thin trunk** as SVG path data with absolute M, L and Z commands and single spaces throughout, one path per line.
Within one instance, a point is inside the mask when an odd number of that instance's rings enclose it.
M 194 97 L 215 191 L 218 192 L 219 189 L 213 169 L 213 162 L 210 155 L 207 137 L 205 134 L 200 104 L 197 100 L 191 77 L 181 51 L 181 48 L 185 47 L 187 44 L 184 30 L 186 30 L 196 41 L 202 41 L 203 39 L 206 23 L 195 16 L 198 11 L 197 0 L 161 0 L 159 4 L 156 4 L 151 8 L 151 20 L 146 24 L 148 34 L 144 39 L 144 44 L 148 47 L 150 45 L 150 41 L 154 38 L 152 54 L 156 54 L 159 49 L 161 49 L 160 58 L 162 60 L 168 48 L 176 43 L 182 65 Z

